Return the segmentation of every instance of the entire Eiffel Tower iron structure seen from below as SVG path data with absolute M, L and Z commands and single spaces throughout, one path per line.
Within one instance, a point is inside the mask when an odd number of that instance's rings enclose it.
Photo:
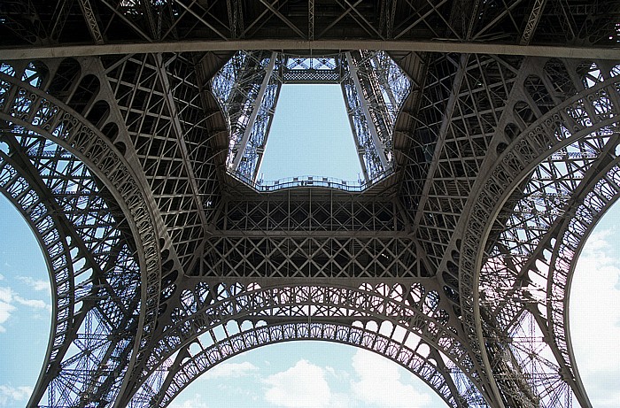
M 0 189 L 54 304 L 27 406 L 165 407 L 323 340 L 448 406 L 591 407 L 567 311 L 620 194 L 619 24 L 617 0 L 3 0 Z M 363 177 L 260 180 L 279 89 L 317 82 Z

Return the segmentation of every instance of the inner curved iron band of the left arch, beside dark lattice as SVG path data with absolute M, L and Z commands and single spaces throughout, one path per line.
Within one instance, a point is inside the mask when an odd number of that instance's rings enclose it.
M 138 264 L 143 271 L 141 311 L 135 350 L 130 366 L 139 366 L 151 340 L 159 305 L 159 240 L 145 193 L 131 177 L 130 166 L 98 129 L 41 89 L 0 73 L 9 88 L 0 104 L 0 119 L 58 143 L 80 158 L 97 175 L 127 219 L 136 239 Z M 131 373 L 128 373 L 130 376 Z

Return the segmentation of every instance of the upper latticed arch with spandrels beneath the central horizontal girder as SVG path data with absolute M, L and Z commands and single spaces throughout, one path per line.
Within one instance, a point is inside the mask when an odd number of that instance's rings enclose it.
M 187 295 L 184 295 L 187 294 Z M 407 288 L 404 285 L 361 285 L 360 288 L 297 284 L 261 288 L 258 284 L 208 285 L 199 282 L 194 289 L 182 291 L 180 307 L 172 314 L 174 322 L 165 327 L 155 343 L 149 368 L 143 372 L 141 387 L 167 358 L 189 347 L 199 335 L 235 321 L 307 322 L 308 319 L 329 322 L 384 321 L 392 327 L 392 341 L 404 346 L 405 339 L 395 331 L 407 333 L 417 346 L 428 344 L 437 353 L 452 360 L 452 365 L 471 383 L 478 384 L 472 373 L 472 362 L 456 330 L 448 325 L 448 313 L 441 308 L 437 290 L 425 289 L 421 282 Z M 380 329 L 377 327 L 376 332 Z M 144 385 L 146 384 L 146 385 Z M 143 391 L 136 389 L 136 397 Z M 475 392 L 479 395 L 480 391 Z

